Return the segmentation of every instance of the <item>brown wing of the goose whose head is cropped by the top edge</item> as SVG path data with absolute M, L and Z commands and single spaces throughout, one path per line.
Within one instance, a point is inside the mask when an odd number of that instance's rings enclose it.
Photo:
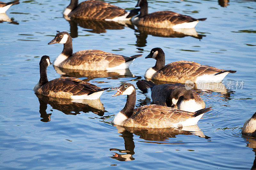
M 72 11 L 70 17 L 112 19 L 118 16 L 123 16 L 126 13 L 127 12 L 124 9 L 106 2 L 89 0 L 80 3 L 77 8 Z

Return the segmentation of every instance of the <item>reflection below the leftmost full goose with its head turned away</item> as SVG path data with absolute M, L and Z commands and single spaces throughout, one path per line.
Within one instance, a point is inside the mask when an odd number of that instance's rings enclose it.
M 50 122 L 50 117 L 52 114 L 47 114 L 47 104 L 51 105 L 53 109 L 59 110 L 66 115 L 77 115 L 80 112 L 88 113 L 93 112 L 99 116 L 103 116 L 105 108 L 103 104 L 98 100 L 72 100 L 72 99 L 62 99 L 62 98 L 53 98 L 40 94 L 36 94 L 36 97 L 39 100 L 39 113 L 42 122 Z

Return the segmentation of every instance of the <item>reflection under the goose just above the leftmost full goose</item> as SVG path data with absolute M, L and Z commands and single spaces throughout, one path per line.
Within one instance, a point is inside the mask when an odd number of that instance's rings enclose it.
M 53 66 L 54 69 L 61 77 L 75 77 L 81 78 L 86 77 L 83 81 L 90 81 L 94 78 L 108 78 L 108 79 L 118 79 L 118 78 L 141 78 L 140 76 L 134 76 L 129 69 L 120 70 L 100 70 L 100 71 L 90 71 L 90 70 L 75 70 L 75 69 L 64 69 L 57 66 Z

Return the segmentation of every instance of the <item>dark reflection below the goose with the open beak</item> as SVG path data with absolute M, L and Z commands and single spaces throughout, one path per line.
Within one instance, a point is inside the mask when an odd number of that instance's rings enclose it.
M 118 130 L 118 133 L 121 133 L 120 137 L 124 138 L 124 150 L 111 148 L 109 149 L 114 154 L 110 156 L 110 158 L 117 159 L 119 161 L 130 161 L 135 158 L 132 155 L 135 154 L 134 148 L 135 144 L 133 142 L 133 134 L 140 136 L 141 139 L 146 143 L 155 143 L 155 144 L 174 144 L 174 143 L 166 143 L 161 141 L 166 141 L 169 138 L 176 137 L 176 135 L 196 135 L 198 137 L 204 137 L 205 139 L 210 139 L 204 135 L 203 131 L 199 129 L 197 125 L 194 126 L 186 126 L 182 128 L 163 128 L 163 129 L 154 129 L 154 128 L 134 128 L 134 127 L 124 127 L 114 125 Z M 152 141 L 152 142 L 151 142 Z M 175 143 L 177 144 L 177 143 Z M 120 153 L 114 152 L 118 151 Z

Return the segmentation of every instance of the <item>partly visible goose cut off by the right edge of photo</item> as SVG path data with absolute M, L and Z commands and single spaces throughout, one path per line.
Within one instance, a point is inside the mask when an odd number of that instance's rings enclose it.
M 250 119 L 245 121 L 242 133 L 247 136 L 256 137 L 256 112 Z

